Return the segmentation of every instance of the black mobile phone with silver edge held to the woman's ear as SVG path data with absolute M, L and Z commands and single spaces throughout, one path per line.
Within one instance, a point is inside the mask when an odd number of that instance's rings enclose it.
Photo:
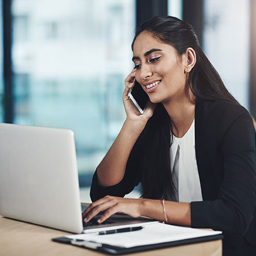
M 134 79 L 135 85 L 130 88 L 128 98 L 134 105 L 135 109 L 142 115 L 149 101 L 147 93 L 142 89 L 142 86 Z

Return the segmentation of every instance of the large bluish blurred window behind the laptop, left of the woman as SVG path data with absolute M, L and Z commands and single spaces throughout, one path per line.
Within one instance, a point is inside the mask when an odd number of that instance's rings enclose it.
M 72 129 L 90 185 L 125 120 L 135 0 L 13 0 L 12 14 L 14 123 Z

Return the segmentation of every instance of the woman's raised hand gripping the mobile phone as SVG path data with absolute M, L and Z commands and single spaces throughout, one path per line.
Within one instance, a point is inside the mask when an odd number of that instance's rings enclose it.
M 123 105 L 125 106 L 125 112 L 127 115 L 127 121 L 135 122 L 139 121 L 142 123 L 146 123 L 156 108 L 156 104 L 153 104 L 151 101 L 148 101 L 147 107 L 144 110 L 144 113 L 141 115 L 137 109 L 134 108 L 133 104 L 130 102 L 128 98 L 128 93 L 130 88 L 132 88 L 135 83 L 133 82 L 135 78 L 135 68 L 125 79 L 125 91 L 123 92 Z

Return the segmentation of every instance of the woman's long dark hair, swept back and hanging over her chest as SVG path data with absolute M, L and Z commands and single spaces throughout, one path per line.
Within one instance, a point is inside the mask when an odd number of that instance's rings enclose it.
M 135 39 L 141 32 L 150 32 L 161 42 L 170 44 L 178 55 L 183 55 L 188 47 L 196 52 L 196 64 L 188 75 L 187 86 L 195 95 L 195 101 L 224 100 L 239 104 L 228 92 L 216 69 L 205 56 L 193 27 L 172 16 L 156 16 L 138 27 Z M 130 161 L 135 160 L 141 174 L 142 197 L 150 199 L 172 200 L 174 184 L 170 167 L 170 145 L 172 125 L 162 104 L 156 106 L 155 112 L 134 145 Z M 136 156 L 139 159 L 135 159 Z

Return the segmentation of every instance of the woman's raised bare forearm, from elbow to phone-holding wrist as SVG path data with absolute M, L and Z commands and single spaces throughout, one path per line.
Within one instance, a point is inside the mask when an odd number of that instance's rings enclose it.
M 129 121 L 123 123 L 117 139 L 97 168 L 98 181 L 102 187 L 115 185 L 123 179 L 130 152 L 145 125 Z

